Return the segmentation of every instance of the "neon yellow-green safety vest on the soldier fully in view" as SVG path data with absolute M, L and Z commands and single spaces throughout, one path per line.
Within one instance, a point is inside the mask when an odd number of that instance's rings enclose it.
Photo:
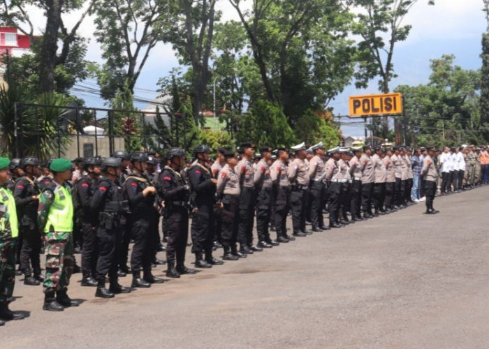
M 65 186 L 54 189 L 54 201 L 48 214 L 44 232 L 73 232 L 73 200 Z

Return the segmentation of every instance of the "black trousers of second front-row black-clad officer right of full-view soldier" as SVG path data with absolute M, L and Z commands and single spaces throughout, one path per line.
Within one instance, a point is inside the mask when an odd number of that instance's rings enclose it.
M 132 219 L 132 238 L 134 239 L 131 253 L 131 269 L 134 273 L 143 269 L 145 274 L 151 274 L 152 263 L 152 229 L 154 219 L 151 214 L 136 216 Z

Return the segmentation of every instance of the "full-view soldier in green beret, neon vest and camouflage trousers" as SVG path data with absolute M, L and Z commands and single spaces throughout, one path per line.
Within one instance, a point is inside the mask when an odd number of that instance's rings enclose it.
M 78 306 L 67 295 L 73 274 L 73 200 L 67 181 L 71 179 L 71 161 L 56 158 L 50 165 L 53 181 L 41 193 L 38 225 L 46 242 L 44 305 L 47 311 L 63 311 Z M 56 293 L 56 297 L 54 294 Z

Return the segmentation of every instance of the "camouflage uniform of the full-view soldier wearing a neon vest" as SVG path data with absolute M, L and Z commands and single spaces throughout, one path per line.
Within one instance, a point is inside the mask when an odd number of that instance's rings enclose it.
M 70 283 L 71 274 L 73 274 L 73 227 L 71 231 L 57 232 L 51 227 L 46 227 L 50 209 L 54 204 L 55 195 L 59 195 L 61 200 L 66 200 L 66 205 L 72 205 L 71 193 L 67 186 L 61 188 L 56 182 L 52 181 L 41 194 L 38 223 L 39 227 L 45 231 L 45 255 L 46 255 L 46 277 L 43 283 L 45 292 L 50 290 L 64 290 Z M 64 197 L 64 198 L 62 198 Z M 72 217 L 65 217 L 71 221 Z

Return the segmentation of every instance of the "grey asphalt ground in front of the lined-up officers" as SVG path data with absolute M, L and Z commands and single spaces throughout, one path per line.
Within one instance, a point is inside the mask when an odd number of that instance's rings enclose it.
M 61 313 L 19 277 L 10 309 L 27 318 L 0 327 L 0 348 L 487 348 L 488 194 L 436 198 L 433 216 L 421 202 L 114 299 L 75 274 L 68 294 L 82 304 Z

